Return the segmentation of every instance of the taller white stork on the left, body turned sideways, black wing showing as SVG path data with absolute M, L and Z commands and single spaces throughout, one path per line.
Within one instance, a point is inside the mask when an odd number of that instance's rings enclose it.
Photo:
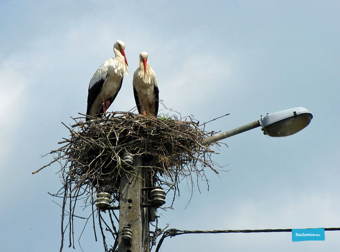
M 122 86 L 124 73 L 129 75 L 124 48 L 123 41 L 117 40 L 113 46 L 115 58 L 106 60 L 93 75 L 88 87 L 87 115 L 105 113 Z

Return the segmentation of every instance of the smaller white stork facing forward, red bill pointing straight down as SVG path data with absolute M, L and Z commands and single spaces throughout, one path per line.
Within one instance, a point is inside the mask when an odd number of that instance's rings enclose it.
M 132 86 L 138 112 L 157 116 L 159 93 L 157 78 L 148 63 L 147 52 L 139 54 L 139 68 L 133 74 Z

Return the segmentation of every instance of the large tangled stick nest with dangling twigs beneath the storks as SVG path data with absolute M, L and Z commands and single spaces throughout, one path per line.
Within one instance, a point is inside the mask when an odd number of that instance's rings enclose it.
M 123 161 L 124 154 L 131 154 L 134 158 L 141 157 L 146 175 L 144 179 L 149 186 L 160 185 L 168 192 L 172 190 L 174 196 L 176 191 L 179 192 L 178 184 L 182 179 L 187 178 L 192 187 L 193 181 L 201 179 L 207 182 L 204 168 L 209 167 L 218 174 L 212 167 L 216 163 L 210 159 L 214 151 L 201 144 L 213 132 L 200 129 L 199 122 L 192 116 L 178 119 L 175 115 L 167 115 L 156 118 L 130 112 L 107 115 L 104 119 L 87 122 L 84 118 L 77 118 L 74 119 L 76 124 L 70 127 L 64 124 L 70 131 L 70 137 L 60 142 L 66 143 L 65 146 L 50 152 L 54 159 L 44 166 L 56 161 L 61 164 L 63 187 L 54 196 L 64 199 L 62 230 L 66 215 L 65 205 L 67 199 L 69 200 L 68 225 L 72 236 L 74 232 L 71 232 L 71 226 L 73 229 L 77 199 L 83 199 L 85 207 L 92 205 L 92 216 L 95 215 L 95 192 L 111 193 L 113 203 L 119 199 L 122 171 L 133 173 L 131 167 Z M 197 178 L 193 179 L 193 176 Z M 111 218 L 111 212 L 109 213 Z M 99 211 L 98 214 L 101 225 Z M 109 228 L 109 225 L 106 226 Z M 103 234 L 102 226 L 100 227 Z M 112 227 L 115 230 L 114 224 Z M 62 247 L 64 232 L 62 231 Z M 114 231 L 112 234 L 114 237 L 117 235 Z

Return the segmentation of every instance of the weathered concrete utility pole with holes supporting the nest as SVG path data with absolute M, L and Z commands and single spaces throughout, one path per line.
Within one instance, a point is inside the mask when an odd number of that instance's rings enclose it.
M 142 159 L 134 157 L 132 173 L 120 178 L 118 252 L 149 252 L 148 209 L 141 206 Z

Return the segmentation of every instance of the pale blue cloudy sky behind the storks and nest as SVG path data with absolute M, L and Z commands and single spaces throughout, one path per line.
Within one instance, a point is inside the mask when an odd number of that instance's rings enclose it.
M 222 140 L 212 158 L 227 172 L 181 185 L 158 226 L 179 230 L 340 227 L 339 1 L 0 1 L 0 247 L 59 251 L 62 186 L 41 157 L 68 137 L 61 124 L 86 112 L 88 84 L 122 40 L 130 76 L 109 108 L 135 107 L 133 72 L 149 53 L 168 108 L 226 131 L 293 107 L 313 114 L 285 138 L 259 128 Z M 200 190 L 198 190 L 200 189 Z M 56 202 L 56 203 L 55 203 Z M 167 200 L 167 203 L 170 199 Z M 189 204 L 188 204 L 189 203 Z M 77 224 L 76 240 L 83 228 Z M 186 234 L 168 251 L 335 251 L 291 233 Z M 75 249 L 104 251 L 88 225 Z M 111 243 L 113 244 L 114 241 Z M 66 242 L 67 243 L 67 242 Z

